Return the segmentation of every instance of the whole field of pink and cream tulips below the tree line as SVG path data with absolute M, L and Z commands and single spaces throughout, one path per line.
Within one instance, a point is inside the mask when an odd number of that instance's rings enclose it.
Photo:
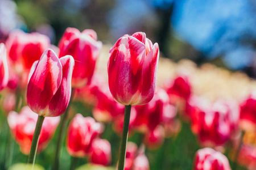
M 0 67 L 0 169 L 256 169 L 256 82 L 144 32 L 15 30 Z

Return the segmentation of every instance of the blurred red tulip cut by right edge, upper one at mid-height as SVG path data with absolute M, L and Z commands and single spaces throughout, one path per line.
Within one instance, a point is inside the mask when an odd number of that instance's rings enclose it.
M 240 126 L 243 130 L 256 131 L 256 95 L 252 92 L 240 104 Z

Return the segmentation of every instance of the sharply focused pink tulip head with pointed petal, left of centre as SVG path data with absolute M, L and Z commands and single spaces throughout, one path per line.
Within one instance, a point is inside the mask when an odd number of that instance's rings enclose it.
M 57 58 L 51 49 L 31 67 L 27 87 L 28 106 L 39 116 L 60 116 L 71 97 L 72 56 Z

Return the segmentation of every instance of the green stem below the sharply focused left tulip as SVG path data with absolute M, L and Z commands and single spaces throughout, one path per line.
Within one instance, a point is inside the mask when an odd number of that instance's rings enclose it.
M 32 143 L 31 143 L 31 148 L 30 148 L 30 155 L 28 155 L 28 164 L 35 164 L 35 156 L 36 156 L 36 150 L 38 150 L 38 141 L 39 141 L 39 135 L 41 132 L 41 128 L 43 125 L 44 117 L 43 116 L 38 116 L 38 121 L 36 122 L 36 128 L 35 128 L 35 133 L 33 135 Z

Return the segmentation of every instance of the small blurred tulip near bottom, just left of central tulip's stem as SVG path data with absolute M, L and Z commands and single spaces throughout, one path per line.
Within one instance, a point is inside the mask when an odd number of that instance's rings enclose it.
M 108 166 L 111 162 L 111 145 L 106 139 L 94 139 L 90 147 L 89 159 L 93 164 Z

